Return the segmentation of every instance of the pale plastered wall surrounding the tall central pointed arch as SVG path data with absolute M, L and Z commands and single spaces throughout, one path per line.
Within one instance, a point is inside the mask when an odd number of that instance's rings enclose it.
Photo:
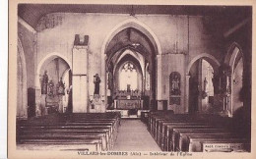
M 200 16 L 136 15 L 134 18 L 125 14 L 48 14 L 39 21 L 37 26 L 36 66 L 45 60 L 49 54 L 60 54 L 69 61 L 67 63 L 72 62 L 75 34 L 89 35 L 89 95 L 94 93 L 93 77 L 99 74 L 102 79 L 100 92 L 105 98 L 103 44 L 105 40 L 110 40 L 107 39 L 109 33 L 114 32 L 116 27 L 121 27 L 123 22 L 129 20 L 135 22 L 133 23 L 134 26 L 146 26 L 146 30 L 155 37 L 156 43 L 159 44 L 158 54 L 161 55 L 158 55 L 158 65 L 160 66 L 157 66 L 158 100 L 168 100 L 168 77 L 170 73 L 180 73 L 181 105 L 170 106 L 170 109 L 179 113 L 184 112 L 185 77 L 189 62 L 202 53 L 213 55 L 221 61 L 221 51 L 215 47 L 215 43 L 212 42 L 212 35 L 204 28 Z

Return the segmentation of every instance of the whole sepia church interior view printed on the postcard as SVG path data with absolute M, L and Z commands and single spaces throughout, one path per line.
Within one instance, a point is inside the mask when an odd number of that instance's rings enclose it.
M 252 7 L 19 4 L 17 29 L 18 149 L 251 151 Z

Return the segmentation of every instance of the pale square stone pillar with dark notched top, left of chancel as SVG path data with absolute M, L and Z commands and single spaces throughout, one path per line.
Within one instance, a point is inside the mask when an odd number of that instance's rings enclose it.
M 72 55 L 72 102 L 74 113 L 88 112 L 88 36 L 76 34 Z

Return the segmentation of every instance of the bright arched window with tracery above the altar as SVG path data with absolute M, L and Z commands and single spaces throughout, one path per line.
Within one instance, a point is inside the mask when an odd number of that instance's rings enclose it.
M 131 62 L 123 65 L 119 75 L 119 90 L 138 89 L 138 72 Z

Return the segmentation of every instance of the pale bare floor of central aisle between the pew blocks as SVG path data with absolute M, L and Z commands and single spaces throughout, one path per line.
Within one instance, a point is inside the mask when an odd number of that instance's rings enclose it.
M 121 120 L 113 151 L 161 151 L 140 120 Z

